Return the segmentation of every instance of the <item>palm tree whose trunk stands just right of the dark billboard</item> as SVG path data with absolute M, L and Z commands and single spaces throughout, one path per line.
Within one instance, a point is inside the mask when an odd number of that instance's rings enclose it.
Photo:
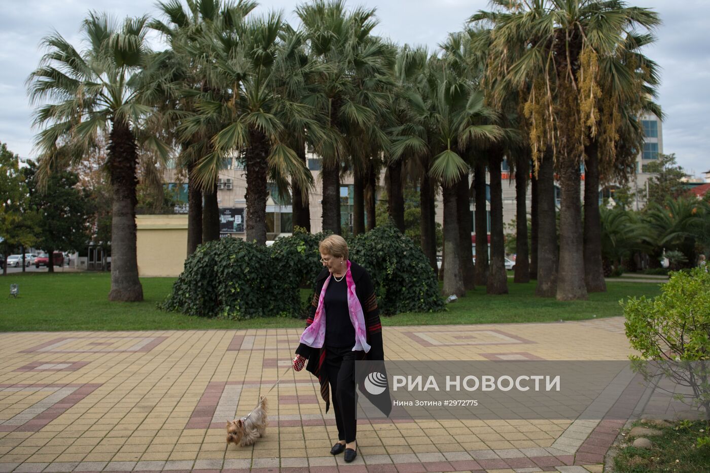
M 205 124 L 218 132 L 210 140 L 212 151 L 197 163 L 198 183 L 213 183 L 224 161 L 234 151 L 243 153 L 246 167 L 246 240 L 266 243 L 267 178 L 288 187 L 288 176 L 301 188 L 312 177 L 305 163 L 287 143 L 286 124 L 300 121 L 310 129 L 317 124 L 305 104 L 278 94 L 275 64 L 279 62 L 278 37 L 283 27 L 280 13 L 242 18 L 228 16 L 201 38 L 200 50 L 209 50 L 207 92 L 196 94 L 197 114 L 185 121 L 185 136 Z

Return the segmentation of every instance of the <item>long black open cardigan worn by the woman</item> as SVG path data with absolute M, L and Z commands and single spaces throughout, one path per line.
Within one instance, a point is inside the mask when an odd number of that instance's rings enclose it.
M 353 283 L 355 284 L 355 294 L 362 306 L 365 325 L 367 327 L 367 342 L 370 345 L 370 351 L 365 354 L 364 359 L 382 361 L 385 359 L 382 346 L 382 325 L 380 323 L 380 310 L 377 307 L 375 288 L 365 268 L 352 261 L 350 263 L 350 272 L 353 277 Z M 323 268 L 316 278 L 315 295 L 313 295 L 313 300 L 311 301 L 311 310 L 306 320 L 306 327 L 313 323 L 315 311 L 318 308 L 320 292 L 329 276 L 330 272 L 328 268 Z M 328 408 L 330 407 L 328 379 L 325 372 L 326 370 L 321 369 L 325 359 L 325 347 L 314 349 L 307 344 L 301 343 L 296 349 L 296 354 L 300 354 L 308 360 L 306 370 L 318 378 L 321 397 L 325 401 L 325 411 L 328 412 Z

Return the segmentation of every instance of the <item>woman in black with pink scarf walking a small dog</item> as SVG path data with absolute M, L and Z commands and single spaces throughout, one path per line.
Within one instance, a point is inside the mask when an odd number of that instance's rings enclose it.
M 370 276 L 349 261 L 346 241 L 331 235 L 318 249 L 323 270 L 293 362 L 298 371 L 307 360 L 307 371 L 320 382 L 326 412 L 333 393 L 338 442 L 330 452 L 345 452 L 344 460 L 352 462 L 357 456 L 355 361 L 384 359 L 380 312 Z

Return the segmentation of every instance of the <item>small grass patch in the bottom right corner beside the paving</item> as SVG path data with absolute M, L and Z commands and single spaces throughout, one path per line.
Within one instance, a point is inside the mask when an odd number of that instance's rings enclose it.
M 643 424 L 636 422 L 634 425 Z M 615 471 L 618 473 L 710 472 L 710 445 L 696 446 L 699 437 L 708 435 L 706 422 L 682 421 L 672 427 L 659 430 L 662 435 L 648 437 L 653 442 L 653 447 L 648 450 L 632 445 L 621 447 L 614 457 Z

